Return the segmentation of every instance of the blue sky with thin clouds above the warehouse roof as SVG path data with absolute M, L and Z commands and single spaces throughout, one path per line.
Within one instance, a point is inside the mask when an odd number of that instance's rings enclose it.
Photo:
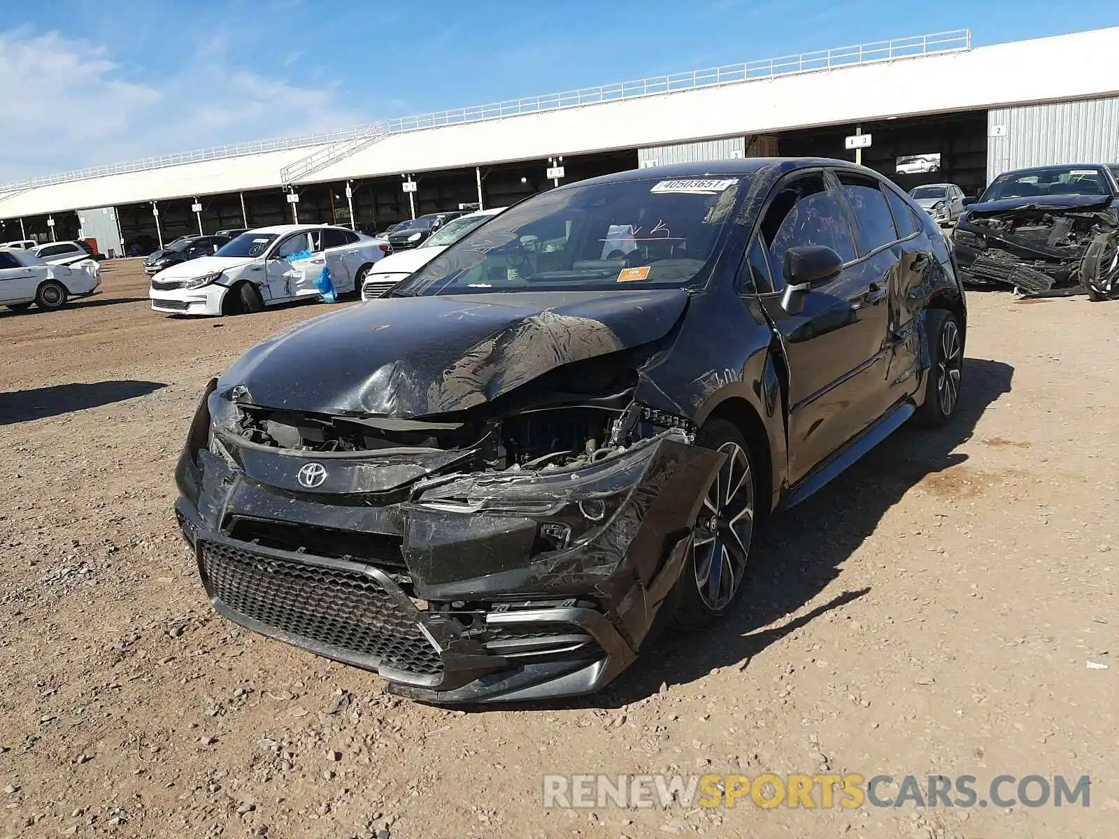
M 8 181 L 946 29 L 1116 26 L 1119 2 L 41 0 L 3 20 L 0 86 L 26 111 L 0 132 Z

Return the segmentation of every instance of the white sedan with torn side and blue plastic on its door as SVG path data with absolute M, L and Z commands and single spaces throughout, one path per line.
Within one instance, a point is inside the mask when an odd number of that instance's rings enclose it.
M 243 233 L 213 256 L 151 279 L 151 308 L 169 314 L 242 314 L 294 300 L 333 302 L 361 287 L 388 243 L 333 225 L 278 225 Z

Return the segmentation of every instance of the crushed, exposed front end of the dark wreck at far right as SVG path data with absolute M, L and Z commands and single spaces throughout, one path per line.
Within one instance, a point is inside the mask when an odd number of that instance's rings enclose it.
M 953 241 L 976 252 L 970 264 L 961 260 L 974 285 L 1008 286 L 1022 296 L 1119 299 L 1115 209 L 974 214 L 960 221 Z

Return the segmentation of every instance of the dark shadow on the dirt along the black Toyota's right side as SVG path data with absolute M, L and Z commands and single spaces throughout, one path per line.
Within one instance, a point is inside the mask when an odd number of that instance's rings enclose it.
M 602 692 L 560 707 L 624 707 L 661 685 L 696 681 L 714 668 L 736 668 L 742 678 L 755 678 L 750 668 L 754 656 L 869 592 L 844 591 L 783 620 L 840 577 L 843 564 L 902 496 L 927 477 L 967 460 L 955 450 L 971 437 L 988 406 L 1010 390 L 1013 376 L 1014 368 L 1002 361 L 967 359 L 963 400 L 948 426 L 903 426 L 802 505 L 774 518 L 754 546 L 746 588 L 731 614 L 706 632 L 666 633 Z M 914 528 L 924 524 L 913 522 Z

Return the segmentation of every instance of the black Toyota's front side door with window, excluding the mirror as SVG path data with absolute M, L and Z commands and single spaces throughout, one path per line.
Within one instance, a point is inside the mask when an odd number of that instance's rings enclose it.
M 882 268 L 859 257 L 838 185 L 824 170 L 778 185 L 760 235 L 751 258 L 769 263 L 772 292 L 761 300 L 789 359 L 789 479 L 796 482 L 877 418 L 885 378 Z M 799 245 L 826 245 L 845 267 L 805 294 L 800 313 L 789 314 L 781 307 L 782 266 L 786 252 Z

